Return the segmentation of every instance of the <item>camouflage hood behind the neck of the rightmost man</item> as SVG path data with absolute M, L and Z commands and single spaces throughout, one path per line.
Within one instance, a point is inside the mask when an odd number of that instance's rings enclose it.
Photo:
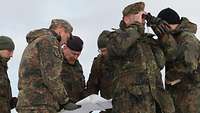
M 178 25 L 175 31 L 176 32 L 187 31 L 196 34 L 197 25 L 190 22 L 186 17 L 182 17 L 181 23 Z

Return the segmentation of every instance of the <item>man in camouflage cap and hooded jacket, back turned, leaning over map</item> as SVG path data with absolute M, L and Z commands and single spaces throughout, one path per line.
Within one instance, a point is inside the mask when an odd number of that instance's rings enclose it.
M 19 113 L 57 113 L 61 108 L 80 107 L 69 101 L 60 77 L 63 56 L 59 44 L 69 39 L 71 32 L 67 21 L 53 19 L 49 29 L 27 34 L 28 46 L 19 67 Z

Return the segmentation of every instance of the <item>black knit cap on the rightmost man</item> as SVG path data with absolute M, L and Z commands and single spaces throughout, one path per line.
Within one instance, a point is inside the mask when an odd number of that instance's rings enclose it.
M 180 24 L 178 13 L 171 8 L 161 10 L 157 17 L 165 20 L 169 24 Z

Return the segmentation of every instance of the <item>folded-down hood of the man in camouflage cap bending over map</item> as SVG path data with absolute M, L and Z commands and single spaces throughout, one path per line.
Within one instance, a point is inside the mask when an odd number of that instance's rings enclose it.
M 45 29 L 45 28 L 33 30 L 26 35 L 26 41 L 29 44 L 35 39 L 40 38 L 41 36 L 50 35 L 50 34 L 52 34 L 52 32 L 49 29 Z

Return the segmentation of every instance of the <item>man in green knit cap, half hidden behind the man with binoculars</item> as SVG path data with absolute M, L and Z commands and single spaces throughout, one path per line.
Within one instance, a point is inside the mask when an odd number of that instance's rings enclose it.
M 112 63 L 107 60 L 107 44 L 109 42 L 109 31 L 103 31 L 98 38 L 100 54 L 94 58 L 89 79 L 87 81 L 87 92 L 89 95 L 98 94 L 105 99 L 112 99 L 113 68 Z M 100 113 L 111 113 L 111 109 Z

